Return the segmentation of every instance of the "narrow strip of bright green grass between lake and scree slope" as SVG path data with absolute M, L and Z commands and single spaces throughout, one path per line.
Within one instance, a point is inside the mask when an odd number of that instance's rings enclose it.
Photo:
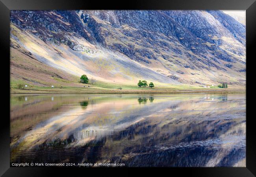
M 74 87 L 72 86 L 65 86 L 66 82 L 62 82 L 63 86 L 61 87 L 61 81 L 63 79 L 56 78 L 60 83 L 54 84 L 54 88 L 48 86 L 38 86 L 38 85 L 31 85 L 28 84 L 26 81 L 23 80 L 11 80 L 10 88 L 12 93 L 125 93 L 125 92 L 134 92 L 134 93 L 140 93 L 140 92 L 204 92 L 205 91 L 211 91 L 211 92 L 226 92 L 226 89 L 220 89 L 217 86 L 210 87 L 210 88 L 203 88 L 193 85 L 165 85 L 165 86 L 158 86 L 155 84 L 155 87 L 138 87 L 137 85 L 125 85 L 125 84 L 116 84 L 116 83 L 106 83 L 102 81 L 97 81 L 95 84 L 78 84 L 74 81 L 69 81 L 69 85 L 74 83 Z M 28 85 L 28 87 L 25 87 L 24 89 L 19 89 L 17 86 L 18 84 Z M 90 85 L 90 87 L 88 87 Z M 83 87 L 85 86 L 85 87 Z M 119 90 L 119 88 L 122 88 L 122 90 Z M 228 89 L 232 90 L 232 89 Z M 233 91 L 232 91 L 233 92 Z

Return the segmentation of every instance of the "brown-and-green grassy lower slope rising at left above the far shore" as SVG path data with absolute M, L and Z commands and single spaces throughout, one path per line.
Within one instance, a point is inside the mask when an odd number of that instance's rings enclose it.
M 153 88 L 139 88 L 137 83 L 109 83 L 96 81 L 95 84 L 80 83 L 80 77 L 62 70 L 56 70 L 33 58 L 33 55 L 19 48 L 11 48 L 12 93 L 130 93 L 130 92 L 240 92 L 243 86 L 229 85 L 229 89 L 219 89 L 217 86 L 203 88 L 198 85 L 155 84 Z M 28 87 L 19 88 L 19 85 Z M 54 88 L 51 86 L 54 85 Z M 90 87 L 88 87 L 90 86 Z M 122 88 L 119 90 L 119 88 Z

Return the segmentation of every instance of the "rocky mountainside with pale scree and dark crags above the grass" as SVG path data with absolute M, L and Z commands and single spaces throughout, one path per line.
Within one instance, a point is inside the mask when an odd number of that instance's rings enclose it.
M 20 52 L 61 79 L 245 84 L 245 26 L 222 11 L 11 11 L 10 23 L 11 57 Z M 20 60 L 12 66 L 15 79 L 48 83 Z

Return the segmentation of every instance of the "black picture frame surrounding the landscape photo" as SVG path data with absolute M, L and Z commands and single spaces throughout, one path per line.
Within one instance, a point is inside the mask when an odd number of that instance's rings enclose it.
M 10 61 L 9 61 L 9 15 L 10 10 L 15 9 L 30 9 L 30 10 L 50 10 L 50 9 L 218 9 L 218 10 L 246 10 L 246 96 L 247 97 L 247 134 L 246 134 L 246 168 L 37 168 L 37 167 L 10 167 L 9 159 L 9 106 L 10 101 L 9 86 L 10 78 Z M 168 171 L 168 174 L 174 175 L 192 175 L 192 176 L 216 176 L 216 177 L 250 177 L 256 175 L 256 138 L 255 138 L 255 121 L 254 116 L 250 116 L 253 104 L 248 104 L 253 99 L 252 84 L 250 77 L 253 77 L 253 60 L 255 59 L 254 46 L 256 43 L 256 1 L 255 0 L 129 0 L 127 2 L 115 1 L 85 1 L 85 0 L 0 0 L 0 48 L 1 52 L 1 80 L 2 80 L 2 114 L 1 119 L 1 145 L 0 145 L 0 175 L 6 176 L 53 176 L 53 172 L 58 171 L 58 176 L 62 174 L 72 173 L 73 176 L 77 172 L 91 171 L 97 173 L 98 171 L 113 172 L 114 170 L 120 171 L 117 173 L 122 175 L 133 175 L 134 170 L 143 173 L 156 173 L 158 171 Z M 253 115 L 253 114 L 252 114 Z M 70 170 L 71 169 L 71 170 Z M 87 173 L 87 172 L 86 172 Z

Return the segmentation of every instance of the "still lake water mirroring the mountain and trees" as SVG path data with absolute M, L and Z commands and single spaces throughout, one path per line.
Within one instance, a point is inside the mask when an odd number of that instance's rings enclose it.
M 245 94 L 12 94 L 11 163 L 245 167 Z

